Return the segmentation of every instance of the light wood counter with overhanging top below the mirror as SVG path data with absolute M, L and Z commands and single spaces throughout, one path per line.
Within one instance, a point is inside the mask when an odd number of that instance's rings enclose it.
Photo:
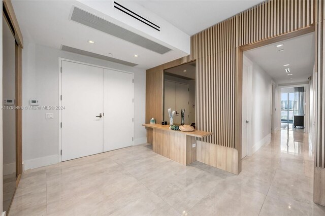
M 152 150 L 155 153 L 184 165 L 197 160 L 196 137 L 212 135 L 211 132 L 200 130 L 191 132 L 171 130 L 169 125 L 143 124 L 142 126 L 152 128 Z

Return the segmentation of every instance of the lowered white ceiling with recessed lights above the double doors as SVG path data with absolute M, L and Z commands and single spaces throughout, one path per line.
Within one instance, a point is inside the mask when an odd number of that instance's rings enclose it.
M 187 55 L 174 49 L 164 55 L 69 20 L 77 1 L 12 1 L 24 41 L 60 49 L 61 45 L 151 68 Z M 99 13 L 101 14 L 101 13 Z M 94 41 L 89 44 L 88 40 Z M 109 53 L 112 53 L 109 54 Z M 139 57 L 134 57 L 137 54 Z

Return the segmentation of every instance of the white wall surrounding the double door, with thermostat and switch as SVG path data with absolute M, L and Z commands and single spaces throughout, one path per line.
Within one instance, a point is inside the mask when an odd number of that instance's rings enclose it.
M 134 72 L 135 80 L 135 145 L 146 142 L 145 122 L 145 70 L 91 58 L 53 48 L 25 44 L 22 52 L 22 105 L 29 99 L 39 99 L 40 106 L 58 105 L 58 58 Z M 52 111 L 51 111 L 52 112 Z M 58 111 L 54 119 L 45 119 L 46 110 L 22 112 L 22 159 L 24 170 L 53 163 L 58 160 Z

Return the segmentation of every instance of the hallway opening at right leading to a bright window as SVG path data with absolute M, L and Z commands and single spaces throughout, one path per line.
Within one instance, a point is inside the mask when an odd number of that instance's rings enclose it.
M 243 52 L 242 159 L 270 146 L 300 155 L 309 145 L 314 45 L 311 32 Z

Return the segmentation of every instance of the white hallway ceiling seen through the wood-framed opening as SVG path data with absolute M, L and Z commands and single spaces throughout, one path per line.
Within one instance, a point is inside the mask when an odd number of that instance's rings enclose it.
M 278 44 L 284 46 L 277 48 Z M 280 49 L 284 51 L 279 52 Z M 259 47 L 244 52 L 244 55 L 261 66 L 278 84 L 308 82 L 307 78 L 311 76 L 315 62 L 315 34 L 312 32 Z M 290 65 L 283 66 L 284 64 Z M 285 68 L 290 68 L 290 74 L 293 75 L 287 76 Z

